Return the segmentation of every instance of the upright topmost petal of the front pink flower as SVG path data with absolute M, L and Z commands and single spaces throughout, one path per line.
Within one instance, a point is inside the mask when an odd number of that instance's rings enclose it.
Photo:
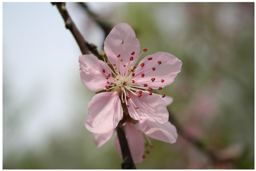
M 121 42 L 123 42 L 121 44 Z M 118 68 L 128 68 L 134 66 L 138 60 L 140 53 L 139 41 L 136 39 L 136 35 L 134 30 L 127 23 L 120 23 L 115 26 L 111 32 L 108 34 L 105 42 L 104 42 L 104 51 L 107 54 L 107 59 L 111 64 L 117 63 L 118 60 Z M 132 52 L 135 52 L 134 55 L 131 55 Z M 120 54 L 120 57 L 117 57 Z M 128 63 L 130 58 L 130 65 Z M 120 61 L 120 59 L 123 61 Z M 126 67 L 124 67 L 124 64 Z M 121 72 L 121 69 L 119 69 Z

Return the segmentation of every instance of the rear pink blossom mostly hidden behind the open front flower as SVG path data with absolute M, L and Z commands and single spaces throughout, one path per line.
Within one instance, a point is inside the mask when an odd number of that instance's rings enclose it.
M 173 102 L 173 98 L 167 97 L 165 98 L 164 102 L 165 105 L 168 106 Z M 105 144 L 112 137 L 115 131 L 116 130 L 113 129 L 107 133 L 93 134 L 93 139 L 97 148 Z M 175 143 L 178 137 L 176 127 L 173 126 L 169 121 L 165 122 L 164 124 L 160 124 L 153 119 L 146 119 L 143 121 L 135 121 L 131 119 L 130 121 L 126 122 L 124 131 L 134 163 L 141 163 L 143 157 L 145 157 L 144 153 L 149 153 L 149 151 L 145 151 L 144 144 L 147 146 L 149 143 L 149 146 L 151 148 L 153 147 L 147 136 L 167 143 Z M 148 141 L 146 143 L 144 141 L 142 132 L 145 134 Z M 118 136 L 115 137 L 115 145 L 118 150 L 118 154 L 122 158 Z

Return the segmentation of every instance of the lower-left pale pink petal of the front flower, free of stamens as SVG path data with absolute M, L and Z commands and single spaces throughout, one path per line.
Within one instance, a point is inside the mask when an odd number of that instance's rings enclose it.
M 93 133 L 105 133 L 116 128 L 123 117 L 123 108 L 116 92 L 96 94 L 88 104 L 86 128 Z

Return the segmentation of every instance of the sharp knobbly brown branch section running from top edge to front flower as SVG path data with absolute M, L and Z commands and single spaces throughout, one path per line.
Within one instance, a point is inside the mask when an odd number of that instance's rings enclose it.
M 82 54 L 90 54 L 90 51 L 91 51 L 95 56 L 97 56 L 99 59 L 101 59 L 102 57 L 100 57 L 100 55 L 97 51 L 97 46 L 95 46 L 93 44 L 89 44 L 83 38 L 83 35 L 77 29 L 75 23 L 69 16 L 69 13 L 65 7 L 65 4 L 66 4 L 65 2 L 52 2 L 52 5 L 57 6 L 59 12 L 62 15 L 63 20 L 65 21 L 66 28 L 69 29 L 71 31 L 71 33 L 73 34 L 78 46 L 80 47 Z

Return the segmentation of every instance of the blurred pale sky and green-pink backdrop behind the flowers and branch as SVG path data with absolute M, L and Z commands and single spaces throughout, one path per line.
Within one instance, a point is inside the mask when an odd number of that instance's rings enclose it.
M 97 22 L 110 29 L 128 23 L 148 49 L 142 58 L 162 51 L 183 62 L 162 91 L 174 98 L 168 110 L 183 133 L 200 146 L 183 134 L 175 144 L 153 140 L 138 169 L 254 168 L 254 3 L 66 8 L 100 52 L 106 34 Z M 84 126 L 94 93 L 80 80 L 80 54 L 51 3 L 3 3 L 3 169 L 121 168 L 115 136 L 96 148 Z

